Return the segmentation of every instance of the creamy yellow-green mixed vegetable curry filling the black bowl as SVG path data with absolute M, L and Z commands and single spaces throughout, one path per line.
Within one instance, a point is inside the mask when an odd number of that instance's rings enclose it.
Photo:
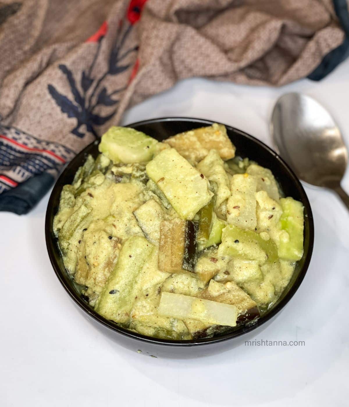
M 64 265 L 100 315 L 165 339 L 251 324 L 303 256 L 303 205 L 268 168 L 235 157 L 223 125 L 158 142 L 102 136 L 61 192 Z

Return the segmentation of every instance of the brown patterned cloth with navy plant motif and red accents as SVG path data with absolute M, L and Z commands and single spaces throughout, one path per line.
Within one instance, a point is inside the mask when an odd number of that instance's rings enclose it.
M 176 81 L 284 85 L 344 38 L 331 0 L 2 0 L 0 210 Z

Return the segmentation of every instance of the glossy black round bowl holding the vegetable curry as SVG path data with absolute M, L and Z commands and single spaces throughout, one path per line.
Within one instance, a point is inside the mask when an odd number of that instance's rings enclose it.
M 129 127 L 143 131 L 157 140 L 164 140 L 165 138 L 173 136 L 176 133 L 211 125 L 212 123 L 213 122 L 209 120 L 193 118 L 160 118 L 133 123 L 129 125 Z M 274 304 L 270 310 L 264 313 L 263 316 L 260 317 L 253 325 L 239 326 L 233 328 L 229 333 L 215 335 L 212 338 L 175 341 L 156 339 L 140 335 L 127 329 L 123 329 L 114 322 L 109 321 L 97 314 L 94 309 L 92 309 L 88 303 L 83 300 L 75 288 L 75 284 L 73 283 L 72 279 L 70 276 L 68 276 L 59 252 L 57 239 L 53 234 L 52 226 L 53 218 L 58 210 L 59 196 L 61 194 L 62 187 L 66 184 L 71 184 L 77 169 L 85 162 L 88 154 L 92 154 L 94 157 L 97 156 L 99 144 L 98 141 L 88 145 L 66 166 L 53 188 L 50 200 L 48 201 L 45 224 L 46 245 L 53 269 L 70 297 L 80 306 L 81 309 L 83 309 L 83 311 L 87 313 L 87 315 L 92 317 L 90 319 L 97 320 L 100 323 L 100 326 L 103 325 L 112 330 L 112 332 L 109 334 L 111 334 L 114 339 L 124 346 L 134 348 L 136 350 L 138 348 L 141 350 L 145 348 L 146 350 L 149 350 L 149 352 L 146 353 L 165 354 L 165 356 L 183 355 L 183 351 L 185 351 L 185 349 L 189 350 L 189 355 L 193 355 L 194 353 L 197 354 L 197 350 L 199 350 L 201 353 L 207 353 L 208 348 L 211 350 L 214 344 L 216 344 L 214 347 L 215 351 L 219 351 L 220 349 L 226 348 L 226 345 L 228 345 L 224 344 L 223 346 L 223 341 L 230 342 L 230 346 L 233 345 L 232 342 L 234 339 L 259 328 L 262 324 L 270 320 L 272 317 L 274 317 L 274 315 L 281 311 L 281 309 L 285 306 L 285 304 L 288 303 L 288 301 L 290 301 L 294 293 L 297 291 L 305 276 L 310 258 L 312 256 L 314 223 L 312 210 L 301 183 L 289 166 L 279 157 L 279 155 L 277 155 L 277 153 L 272 151 L 265 144 L 241 130 L 234 129 L 230 126 L 226 126 L 226 129 L 230 140 L 236 146 L 236 155 L 243 158 L 248 157 L 251 160 L 257 161 L 261 166 L 270 168 L 275 178 L 281 185 L 285 196 L 291 196 L 294 199 L 301 201 L 304 205 L 304 255 L 301 260 L 297 262 L 292 279 L 277 303 Z M 193 352 L 193 347 L 195 348 L 195 352 Z

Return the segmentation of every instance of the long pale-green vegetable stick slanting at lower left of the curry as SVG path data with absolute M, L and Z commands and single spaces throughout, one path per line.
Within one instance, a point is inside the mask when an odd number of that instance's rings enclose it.
M 97 300 L 96 311 L 115 322 L 126 322 L 135 300 L 136 280 L 154 246 L 141 236 L 132 236 L 123 245 L 118 262 Z

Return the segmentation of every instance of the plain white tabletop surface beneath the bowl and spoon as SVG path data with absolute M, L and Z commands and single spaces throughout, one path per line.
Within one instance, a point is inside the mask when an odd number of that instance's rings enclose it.
M 281 89 L 191 79 L 130 109 L 124 124 L 161 116 L 207 118 L 271 144 L 268 120 L 285 92 L 332 113 L 349 144 L 349 60 L 320 83 Z M 342 186 L 349 192 L 347 173 Z M 315 223 L 309 271 L 294 298 L 256 336 L 304 347 L 241 345 L 213 357 L 154 359 L 121 348 L 70 300 L 48 260 L 48 194 L 30 214 L 0 212 L 1 406 L 348 406 L 349 213 L 306 187 Z

